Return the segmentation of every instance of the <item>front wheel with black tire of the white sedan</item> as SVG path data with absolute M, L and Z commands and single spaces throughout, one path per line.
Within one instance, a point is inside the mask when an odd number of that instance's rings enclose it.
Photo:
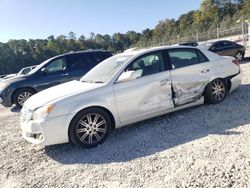
M 80 147 L 93 148 L 107 138 L 110 130 L 111 119 L 104 110 L 87 108 L 72 119 L 68 130 L 69 141 Z

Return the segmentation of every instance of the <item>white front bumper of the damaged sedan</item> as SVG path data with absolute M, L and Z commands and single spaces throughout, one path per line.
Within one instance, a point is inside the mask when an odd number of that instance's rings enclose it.
M 31 116 L 23 121 L 20 119 L 22 136 L 32 144 L 54 145 L 69 141 L 68 127 L 73 114 L 50 117 L 45 120 L 31 120 Z

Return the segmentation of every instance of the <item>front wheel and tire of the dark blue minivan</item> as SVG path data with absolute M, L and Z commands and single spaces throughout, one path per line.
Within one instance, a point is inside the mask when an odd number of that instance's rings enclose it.
M 34 95 L 36 92 L 29 88 L 24 88 L 18 90 L 13 97 L 14 103 L 18 108 L 22 108 L 24 102 L 30 98 L 32 95 Z

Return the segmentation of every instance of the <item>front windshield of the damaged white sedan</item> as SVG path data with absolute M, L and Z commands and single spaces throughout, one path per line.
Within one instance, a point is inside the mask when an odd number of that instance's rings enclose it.
M 116 55 L 110 57 L 81 78 L 82 82 L 105 83 L 112 78 L 114 73 L 130 58 L 131 55 Z

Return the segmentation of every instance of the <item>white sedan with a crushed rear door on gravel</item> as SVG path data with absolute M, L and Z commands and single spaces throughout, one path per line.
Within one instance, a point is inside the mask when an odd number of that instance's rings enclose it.
M 71 81 L 44 90 L 21 111 L 23 137 L 41 145 L 94 147 L 112 129 L 207 103 L 241 84 L 231 57 L 194 47 L 133 49 Z

